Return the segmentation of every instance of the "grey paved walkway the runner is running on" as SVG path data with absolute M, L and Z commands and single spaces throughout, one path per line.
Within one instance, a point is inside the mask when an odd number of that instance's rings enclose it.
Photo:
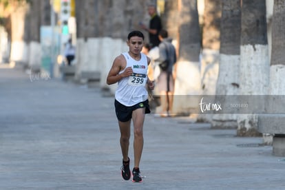
M 142 183 L 120 176 L 114 98 L 100 88 L 0 68 L 0 189 L 284 189 L 262 138 L 147 115 Z M 131 134 L 130 158 L 134 164 Z

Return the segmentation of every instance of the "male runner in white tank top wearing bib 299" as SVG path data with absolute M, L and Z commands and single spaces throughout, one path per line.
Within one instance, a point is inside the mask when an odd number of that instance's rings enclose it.
M 134 169 L 133 182 L 142 182 L 140 176 L 140 158 L 143 147 L 143 123 L 145 114 L 149 114 L 149 102 L 146 86 L 154 89 L 154 82 L 147 76 L 150 59 L 141 53 L 145 37 L 140 31 L 130 32 L 127 37 L 129 52 L 124 52 L 114 59 L 107 76 L 107 84 L 118 82 L 115 92 L 115 109 L 120 128 L 120 147 L 123 154 L 122 176 L 131 178 L 129 169 L 129 138 L 131 120 L 134 125 Z

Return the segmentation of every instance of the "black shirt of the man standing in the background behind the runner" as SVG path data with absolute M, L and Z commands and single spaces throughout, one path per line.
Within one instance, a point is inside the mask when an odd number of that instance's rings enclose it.
M 160 30 L 162 29 L 162 24 L 160 17 L 156 14 L 154 17 L 151 18 L 149 21 L 149 29 L 156 29 L 157 33 L 156 34 L 151 34 L 149 33 L 149 43 L 151 43 L 152 47 L 158 46 L 160 41 L 158 39 L 158 34 Z

